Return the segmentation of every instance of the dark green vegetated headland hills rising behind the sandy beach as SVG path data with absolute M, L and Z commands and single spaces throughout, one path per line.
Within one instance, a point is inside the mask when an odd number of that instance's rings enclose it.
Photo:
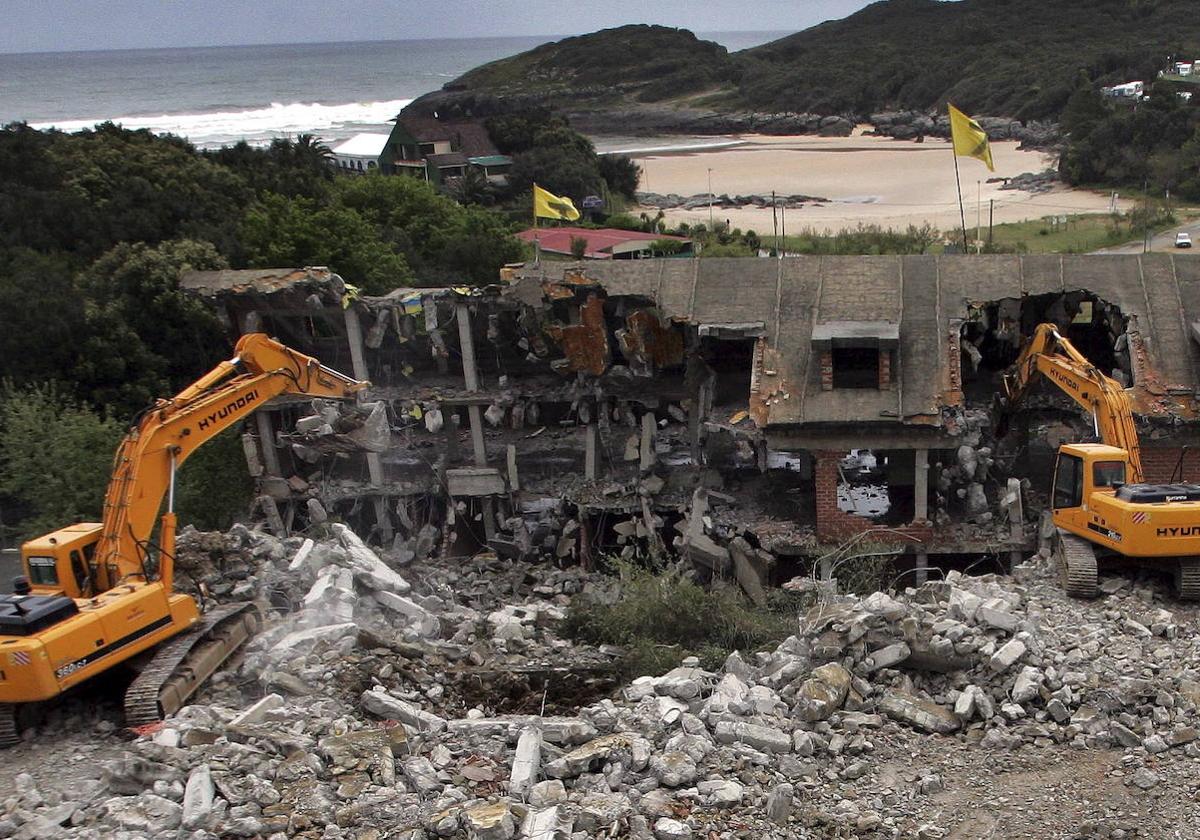
M 476 113 L 503 97 L 564 110 L 688 101 L 860 115 L 953 100 L 1043 119 L 1062 110 L 1080 70 L 1096 84 L 1152 79 L 1169 55 L 1200 58 L 1189 0 L 884 0 L 732 54 L 685 30 L 604 30 L 485 65 L 425 98 Z

